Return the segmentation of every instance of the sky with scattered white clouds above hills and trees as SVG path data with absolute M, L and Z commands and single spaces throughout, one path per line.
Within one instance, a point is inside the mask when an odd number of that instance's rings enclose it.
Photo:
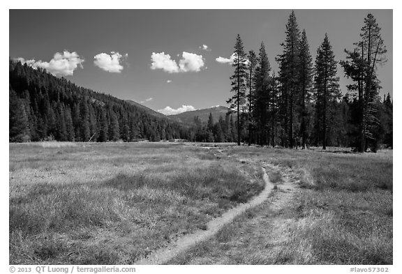
M 246 52 L 258 54 L 264 42 L 277 72 L 291 11 L 10 10 L 9 56 L 165 114 L 228 106 L 237 34 Z M 368 13 L 388 51 L 387 63 L 378 67 L 380 93 L 392 95 L 392 10 L 295 10 L 313 59 L 327 33 L 337 61 L 359 40 Z M 340 66 L 338 76 L 345 93 Z

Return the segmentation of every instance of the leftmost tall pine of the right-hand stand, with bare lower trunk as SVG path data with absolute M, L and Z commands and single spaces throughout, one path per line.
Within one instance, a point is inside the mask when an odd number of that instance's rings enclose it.
M 240 146 L 240 106 L 244 104 L 246 96 L 246 54 L 244 53 L 243 41 L 237 34 L 236 45 L 234 45 L 234 60 L 232 63 L 234 74 L 230 77 L 232 80 L 231 92 L 234 95 L 226 102 L 230 104 L 230 108 L 237 108 L 237 145 Z

